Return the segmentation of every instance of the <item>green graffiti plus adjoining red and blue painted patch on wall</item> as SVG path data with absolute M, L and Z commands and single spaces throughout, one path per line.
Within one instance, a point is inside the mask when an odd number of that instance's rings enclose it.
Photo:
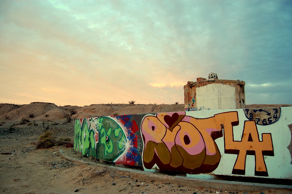
M 124 121 L 125 125 L 118 122 L 128 117 L 91 117 L 75 120 L 74 149 L 82 155 L 100 160 L 139 165 L 140 155 L 135 143 L 137 137 L 131 132 L 133 124 L 128 120 Z M 138 127 L 135 128 L 137 129 Z M 135 158 L 134 162 L 125 160 L 125 157 L 129 159 L 129 155 Z

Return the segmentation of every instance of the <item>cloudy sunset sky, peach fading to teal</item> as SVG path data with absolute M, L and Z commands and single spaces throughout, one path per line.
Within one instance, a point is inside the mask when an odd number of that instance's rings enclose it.
M 0 1 L 0 103 L 183 104 L 211 72 L 292 104 L 292 1 Z

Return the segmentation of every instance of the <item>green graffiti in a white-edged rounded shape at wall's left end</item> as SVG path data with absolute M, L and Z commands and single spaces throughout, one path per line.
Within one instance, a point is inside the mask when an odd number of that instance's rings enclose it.
M 74 149 L 82 155 L 114 161 L 126 150 L 126 142 L 124 131 L 110 117 L 75 121 Z

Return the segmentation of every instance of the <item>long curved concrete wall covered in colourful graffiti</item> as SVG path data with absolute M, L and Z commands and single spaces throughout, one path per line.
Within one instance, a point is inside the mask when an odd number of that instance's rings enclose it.
M 74 149 L 145 171 L 292 178 L 292 107 L 75 120 Z

